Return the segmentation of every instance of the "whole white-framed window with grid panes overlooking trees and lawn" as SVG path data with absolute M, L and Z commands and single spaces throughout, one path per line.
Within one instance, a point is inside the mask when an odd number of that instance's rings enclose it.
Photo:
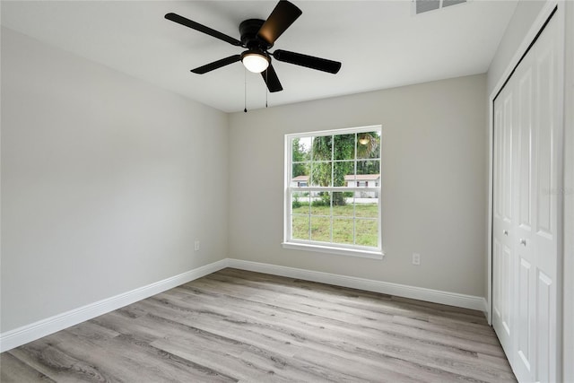
M 285 135 L 283 247 L 382 258 L 381 126 Z

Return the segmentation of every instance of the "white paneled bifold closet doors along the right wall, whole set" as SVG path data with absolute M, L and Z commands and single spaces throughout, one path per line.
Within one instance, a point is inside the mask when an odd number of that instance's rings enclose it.
M 494 102 L 492 324 L 523 382 L 556 381 L 560 367 L 561 88 L 553 19 Z

